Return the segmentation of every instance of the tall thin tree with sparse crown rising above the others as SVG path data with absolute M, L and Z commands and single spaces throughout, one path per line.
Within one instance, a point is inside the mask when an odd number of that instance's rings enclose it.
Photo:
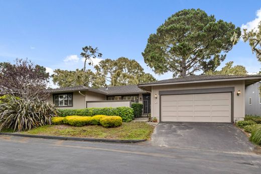
M 85 46 L 82 48 L 81 57 L 84 58 L 83 71 L 86 71 L 86 61 L 89 61 L 89 65 L 93 64 L 91 58 L 101 57 L 102 54 L 98 52 L 98 48 L 92 48 L 92 46 Z

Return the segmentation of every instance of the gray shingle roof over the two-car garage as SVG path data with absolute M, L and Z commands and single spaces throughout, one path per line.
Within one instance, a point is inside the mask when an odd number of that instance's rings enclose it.
M 153 81 L 148 83 L 139 84 L 158 84 L 158 83 L 171 83 L 171 82 L 185 82 L 185 81 L 199 81 L 199 80 L 215 80 L 227 78 L 243 78 L 243 77 L 260 77 L 261 75 L 190 75 L 185 77 L 170 78 L 166 80 Z

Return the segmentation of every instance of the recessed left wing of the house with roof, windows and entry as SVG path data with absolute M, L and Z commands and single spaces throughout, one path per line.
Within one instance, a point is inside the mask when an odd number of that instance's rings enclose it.
M 73 86 L 47 92 L 51 94 L 48 102 L 62 109 L 129 107 L 131 103 L 143 103 L 144 113 L 150 113 L 151 94 L 137 85 L 108 86 L 100 89 Z

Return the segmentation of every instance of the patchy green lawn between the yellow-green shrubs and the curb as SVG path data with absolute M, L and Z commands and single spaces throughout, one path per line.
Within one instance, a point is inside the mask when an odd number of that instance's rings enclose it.
M 98 125 L 88 125 L 82 127 L 73 127 L 69 125 L 48 125 L 21 133 L 66 137 L 140 140 L 150 139 L 153 130 L 154 126 L 144 122 L 123 122 L 122 125 L 117 128 L 104 128 Z

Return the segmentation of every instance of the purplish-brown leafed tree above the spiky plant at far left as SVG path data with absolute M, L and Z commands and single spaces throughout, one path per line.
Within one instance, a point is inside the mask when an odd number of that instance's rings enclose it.
M 46 68 L 28 59 L 16 59 L 16 64 L 0 63 L 0 89 L 3 94 L 15 95 L 25 100 L 45 100 L 49 82 Z

